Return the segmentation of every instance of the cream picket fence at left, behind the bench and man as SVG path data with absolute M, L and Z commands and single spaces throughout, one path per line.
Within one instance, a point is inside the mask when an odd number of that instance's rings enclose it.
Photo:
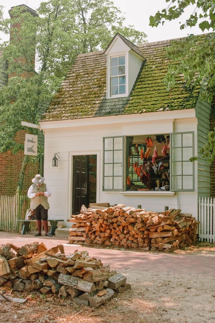
M 24 195 L 0 195 L 0 231 L 18 231 L 22 217 L 23 203 L 26 196 Z M 26 200 L 26 207 L 29 208 L 29 199 Z

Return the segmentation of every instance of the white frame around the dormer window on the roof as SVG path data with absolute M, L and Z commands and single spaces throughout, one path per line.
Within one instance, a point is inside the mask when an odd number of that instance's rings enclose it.
M 125 94 L 111 95 L 111 58 L 125 56 Z M 107 99 L 128 97 L 128 52 L 116 53 L 107 57 Z

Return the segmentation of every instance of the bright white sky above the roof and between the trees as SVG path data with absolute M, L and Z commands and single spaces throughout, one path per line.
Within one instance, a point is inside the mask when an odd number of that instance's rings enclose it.
M 27 0 L 27 5 L 32 9 L 36 9 L 42 0 Z M 144 31 L 147 34 L 149 42 L 165 40 L 177 37 L 187 36 L 188 34 L 202 34 L 198 27 L 179 29 L 179 21 L 183 22 L 186 17 L 189 17 L 193 12 L 191 7 L 182 18 L 173 22 L 166 22 L 163 26 L 150 27 L 149 17 L 154 15 L 158 10 L 166 7 L 165 0 L 113 0 L 114 4 L 121 9 L 126 17 L 126 24 L 134 25 L 138 30 Z M 26 0 L 7 0 L 4 1 L 5 16 L 8 15 L 8 10 L 15 5 L 26 4 Z M 187 10 L 187 9 L 186 9 Z M 5 36 L 0 34 L 0 38 L 5 40 Z

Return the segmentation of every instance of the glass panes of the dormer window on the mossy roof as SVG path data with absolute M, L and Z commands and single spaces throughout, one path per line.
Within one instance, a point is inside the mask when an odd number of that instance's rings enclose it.
M 125 94 L 125 55 L 111 57 L 111 96 Z

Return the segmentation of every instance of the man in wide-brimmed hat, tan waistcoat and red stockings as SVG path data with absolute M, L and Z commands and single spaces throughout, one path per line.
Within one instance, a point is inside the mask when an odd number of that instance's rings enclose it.
M 43 220 L 43 226 L 45 230 L 45 235 L 47 237 L 52 237 L 52 234 L 48 232 L 48 197 L 51 196 L 51 191 L 48 186 L 44 183 L 44 177 L 37 174 L 32 182 L 33 184 L 29 187 L 28 197 L 31 199 L 31 209 L 34 210 L 34 215 L 36 217 L 37 233 L 34 234 L 38 237 L 41 234 L 41 220 Z

